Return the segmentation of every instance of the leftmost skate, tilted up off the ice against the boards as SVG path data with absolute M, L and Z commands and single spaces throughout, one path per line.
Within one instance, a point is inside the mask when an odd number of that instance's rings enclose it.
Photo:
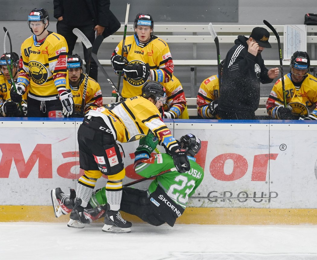
M 76 192 L 74 189 L 70 189 L 70 194 L 63 193 L 61 188 L 51 190 L 52 205 L 56 218 L 73 210 L 75 197 Z

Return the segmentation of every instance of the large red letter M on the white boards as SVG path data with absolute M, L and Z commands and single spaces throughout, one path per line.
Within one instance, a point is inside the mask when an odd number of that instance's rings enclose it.
M 52 145 L 37 144 L 25 162 L 19 143 L 0 143 L 0 178 L 9 178 L 12 161 L 20 178 L 27 178 L 38 161 L 38 178 L 52 178 Z

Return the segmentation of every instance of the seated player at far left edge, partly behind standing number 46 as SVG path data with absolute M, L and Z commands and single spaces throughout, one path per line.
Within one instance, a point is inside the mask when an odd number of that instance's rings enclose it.
M 13 102 L 10 98 L 10 89 L 11 89 L 11 78 L 10 72 L 7 67 L 7 62 L 5 60 L 5 56 L 7 56 L 7 60 L 9 62 L 9 66 L 11 65 L 12 61 L 12 78 L 16 82 L 19 73 L 19 55 L 15 52 L 5 53 L 0 58 L 0 116 L 1 117 L 21 117 L 25 116 L 27 113 L 27 104 L 26 98 L 27 93 L 23 95 L 22 100 L 22 109 L 23 115 L 19 109 L 19 105 Z

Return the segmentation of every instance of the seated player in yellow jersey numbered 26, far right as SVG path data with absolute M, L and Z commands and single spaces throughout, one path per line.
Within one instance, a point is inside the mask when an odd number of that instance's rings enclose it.
M 317 79 L 308 74 L 307 52 L 296 51 L 291 57 L 289 73 L 284 75 L 287 107 L 284 107 L 281 79 L 275 82 L 266 109 L 274 119 L 317 120 Z

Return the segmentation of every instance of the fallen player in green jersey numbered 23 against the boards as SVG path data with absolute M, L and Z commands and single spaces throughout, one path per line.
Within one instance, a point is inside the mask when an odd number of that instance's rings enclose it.
M 203 180 L 204 171 L 194 158 L 201 148 L 201 142 L 192 134 L 184 135 L 177 141 L 179 147 L 187 151 L 190 162 L 189 171 L 183 173 L 179 173 L 174 167 L 174 160 L 177 158 L 173 158 L 169 150 L 166 154 L 152 154 L 158 142 L 152 133 L 140 140 L 139 147 L 135 151 L 135 172 L 146 178 L 153 176 L 156 178 L 146 191 L 123 187 L 120 210 L 136 215 L 151 225 L 159 226 L 166 222 L 173 226 L 176 219 L 183 214 L 188 198 L 195 193 Z M 92 194 L 83 212 L 85 223 L 91 223 L 105 216 L 107 210 L 105 190 L 102 188 Z M 61 188 L 53 189 L 55 216 L 59 217 L 71 212 L 74 198 L 74 190 L 70 195 L 66 195 Z M 107 229 L 106 224 L 104 229 Z

